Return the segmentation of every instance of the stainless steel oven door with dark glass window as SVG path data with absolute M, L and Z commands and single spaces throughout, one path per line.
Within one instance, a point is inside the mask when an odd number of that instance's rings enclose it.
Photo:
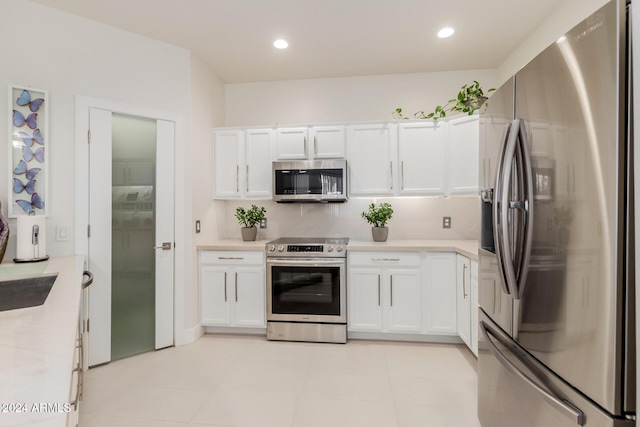
M 268 319 L 344 322 L 344 261 L 267 261 Z

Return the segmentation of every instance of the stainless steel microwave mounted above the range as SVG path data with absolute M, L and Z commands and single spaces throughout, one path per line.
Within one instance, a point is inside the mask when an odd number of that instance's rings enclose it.
M 345 202 L 347 161 L 273 162 L 273 200 L 278 203 Z

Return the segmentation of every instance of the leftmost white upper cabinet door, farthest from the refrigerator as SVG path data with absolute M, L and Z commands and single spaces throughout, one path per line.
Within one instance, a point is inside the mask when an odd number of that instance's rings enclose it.
M 213 140 L 213 198 L 240 198 L 240 130 L 216 131 Z

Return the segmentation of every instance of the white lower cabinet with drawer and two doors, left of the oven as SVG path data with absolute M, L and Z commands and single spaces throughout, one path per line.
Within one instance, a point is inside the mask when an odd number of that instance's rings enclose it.
M 264 252 L 201 251 L 201 324 L 264 328 L 265 287 Z

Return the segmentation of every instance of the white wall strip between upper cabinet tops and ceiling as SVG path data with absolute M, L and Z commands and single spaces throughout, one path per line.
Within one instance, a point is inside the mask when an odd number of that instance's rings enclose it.
M 226 85 L 226 126 L 390 120 L 430 110 L 478 80 L 495 87 L 495 70 L 393 74 Z

